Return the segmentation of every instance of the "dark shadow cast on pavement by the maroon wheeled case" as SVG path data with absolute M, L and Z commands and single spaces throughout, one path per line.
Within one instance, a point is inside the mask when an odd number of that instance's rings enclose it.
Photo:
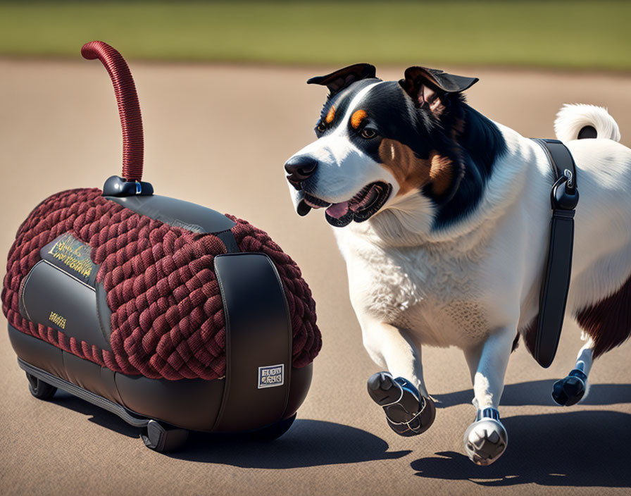
M 181 452 L 165 456 L 244 469 L 294 469 L 307 466 L 396 459 L 411 450 L 388 451 L 374 434 L 341 423 L 296 419 L 285 435 L 271 442 L 245 435 L 191 433 Z

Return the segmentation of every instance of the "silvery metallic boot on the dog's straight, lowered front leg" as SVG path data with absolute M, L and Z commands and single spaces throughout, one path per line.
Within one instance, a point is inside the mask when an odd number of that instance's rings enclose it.
M 508 434 L 494 408 L 478 411 L 477 420 L 465 431 L 465 452 L 477 465 L 490 465 L 506 450 Z

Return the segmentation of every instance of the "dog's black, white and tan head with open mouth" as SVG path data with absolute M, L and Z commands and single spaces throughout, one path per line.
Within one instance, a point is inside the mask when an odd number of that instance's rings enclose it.
M 330 93 L 318 139 L 285 163 L 301 216 L 326 208 L 327 221 L 343 227 L 408 194 L 437 202 L 453 196 L 463 175 L 454 149 L 461 92 L 477 78 L 411 67 L 398 82 L 382 81 L 362 63 L 307 82 Z

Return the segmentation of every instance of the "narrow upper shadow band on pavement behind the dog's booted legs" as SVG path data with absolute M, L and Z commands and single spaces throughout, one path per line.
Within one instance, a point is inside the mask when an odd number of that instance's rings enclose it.
M 552 385 L 556 379 L 533 380 L 527 383 L 508 384 L 501 395 L 501 406 L 520 407 L 537 405 L 554 406 Z M 437 400 L 437 408 L 453 407 L 456 404 L 467 404 L 473 399 L 473 390 L 448 392 L 444 395 L 432 395 Z M 631 384 L 592 384 L 589 395 L 580 404 L 620 404 L 631 403 Z

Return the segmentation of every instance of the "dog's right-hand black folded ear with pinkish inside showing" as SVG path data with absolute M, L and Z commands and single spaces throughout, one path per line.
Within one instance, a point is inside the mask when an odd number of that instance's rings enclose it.
M 435 111 L 444 94 L 463 92 L 477 81 L 477 77 L 457 76 L 439 69 L 414 66 L 406 69 L 405 77 L 399 81 L 399 85 L 417 106 L 427 104 Z

